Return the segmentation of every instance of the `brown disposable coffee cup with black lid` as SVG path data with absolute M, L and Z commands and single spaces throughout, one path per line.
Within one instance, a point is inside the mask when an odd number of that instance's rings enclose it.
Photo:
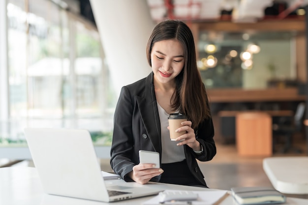
M 182 122 L 187 121 L 186 115 L 180 113 L 171 113 L 168 117 L 169 132 L 171 141 L 186 133 L 186 131 L 176 132 L 175 130 L 183 127 Z

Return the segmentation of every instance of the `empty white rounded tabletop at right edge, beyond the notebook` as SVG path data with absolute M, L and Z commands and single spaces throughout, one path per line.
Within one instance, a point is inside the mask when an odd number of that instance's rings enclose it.
M 268 157 L 263 169 L 281 193 L 308 194 L 308 156 Z

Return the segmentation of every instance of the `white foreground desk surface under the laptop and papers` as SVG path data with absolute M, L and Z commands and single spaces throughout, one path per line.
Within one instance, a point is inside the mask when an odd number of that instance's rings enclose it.
M 126 183 L 123 180 L 109 182 Z M 201 187 L 182 186 L 174 184 L 145 184 L 163 189 L 213 191 Z M 153 196 L 113 202 L 111 205 L 141 205 Z M 105 205 L 108 203 L 74 199 L 68 197 L 52 196 L 43 192 L 38 174 L 35 168 L 7 167 L 0 168 L 0 205 Z M 307 205 L 307 199 L 287 198 L 287 205 Z M 220 205 L 238 205 L 232 196 L 228 196 Z

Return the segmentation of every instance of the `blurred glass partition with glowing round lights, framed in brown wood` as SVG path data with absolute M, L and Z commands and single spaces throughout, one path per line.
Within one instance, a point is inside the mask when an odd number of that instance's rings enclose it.
M 200 31 L 198 67 L 208 88 L 264 89 L 296 81 L 294 31 Z

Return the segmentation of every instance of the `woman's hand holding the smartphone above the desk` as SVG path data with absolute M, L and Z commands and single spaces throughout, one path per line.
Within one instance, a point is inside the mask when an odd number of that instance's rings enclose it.
M 145 184 L 163 172 L 161 168 L 155 168 L 155 164 L 137 164 L 129 173 L 129 177 L 137 183 Z

